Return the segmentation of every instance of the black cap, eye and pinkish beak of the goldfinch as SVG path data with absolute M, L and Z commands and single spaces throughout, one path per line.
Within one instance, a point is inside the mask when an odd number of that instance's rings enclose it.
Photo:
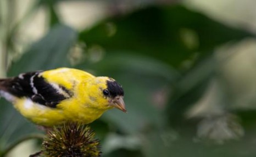
M 116 82 L 114 79 L 109 78 L 109 80 L 107 80 L 107 89 L 103 90 L 103 94 L 105 97 L 110 98 L 110 105 L 126 113 L 125 103 L 123 99 L 124 90 L 118 82 Z

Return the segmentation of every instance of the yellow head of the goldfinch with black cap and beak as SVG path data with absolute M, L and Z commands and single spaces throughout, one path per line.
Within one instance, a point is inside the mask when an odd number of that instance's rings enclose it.
M 121 85 L 110 77 L 96 77 L 90 83 L 89 98 L 93 107 L 102 109 L 117 108 L 126 113 L 124 90 Z

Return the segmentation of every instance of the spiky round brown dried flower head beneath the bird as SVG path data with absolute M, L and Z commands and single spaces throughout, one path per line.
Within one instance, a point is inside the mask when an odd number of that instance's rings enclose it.
M 49 130 L 42 144 L 42 154 L 46 157 L 98 157 L 101 156 L 99 140 L 94 139 L 90 127 L 82 124 L 66 123 Z

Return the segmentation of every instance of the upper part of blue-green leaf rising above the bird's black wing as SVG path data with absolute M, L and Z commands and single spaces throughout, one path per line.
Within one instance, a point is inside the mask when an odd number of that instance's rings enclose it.
M 31 48 L 9 70 L 9 75 L 20 72 L 70 66 L 68 53 L 76 41 L 76 32 L 68 26 L 57 25 Z

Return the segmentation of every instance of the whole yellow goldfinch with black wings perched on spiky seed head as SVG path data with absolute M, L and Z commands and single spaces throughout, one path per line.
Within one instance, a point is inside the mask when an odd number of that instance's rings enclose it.
M 27 119 L 49 127 L 67 121 L 88 124 L 112 108 L 126 112 L 119 83 L 77 69 L 27 72 L 0 79 L 0 95 Z

